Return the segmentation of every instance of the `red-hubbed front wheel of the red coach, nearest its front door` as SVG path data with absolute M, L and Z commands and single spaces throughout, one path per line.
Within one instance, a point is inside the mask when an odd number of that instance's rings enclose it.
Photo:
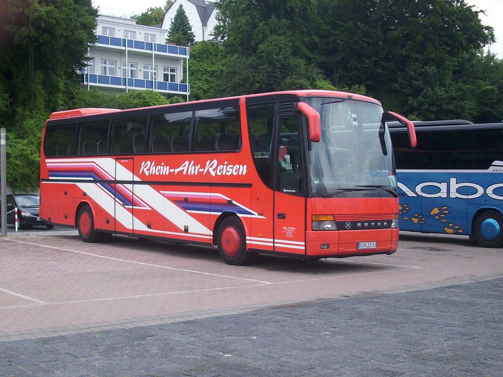
M 225 218 L 218 227 L 218 254 L 227 264 L 242 266 L 251 259 L 246 251 L 246 236 L 241 221 L 236 216 Z

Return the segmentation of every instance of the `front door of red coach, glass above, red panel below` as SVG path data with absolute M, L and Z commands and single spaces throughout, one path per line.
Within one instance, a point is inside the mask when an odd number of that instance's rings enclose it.
M 305 254 L 306 199 L 299 116 L 280 115 L 273 168 L 274 251 Z

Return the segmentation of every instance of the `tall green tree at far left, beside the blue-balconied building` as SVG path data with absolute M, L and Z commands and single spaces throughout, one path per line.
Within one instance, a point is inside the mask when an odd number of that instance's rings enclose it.
M 0 3 L 0 127 L 8 133 L 8 180 L 36 186 L 44 120 L 67 108 L 96 39 L 91 0 Z

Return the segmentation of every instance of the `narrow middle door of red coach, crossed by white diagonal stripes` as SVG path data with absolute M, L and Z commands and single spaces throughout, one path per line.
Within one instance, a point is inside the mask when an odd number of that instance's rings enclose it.
M 134 158 L 115 159 L 115 231 L 133 230 L 133 167 Z

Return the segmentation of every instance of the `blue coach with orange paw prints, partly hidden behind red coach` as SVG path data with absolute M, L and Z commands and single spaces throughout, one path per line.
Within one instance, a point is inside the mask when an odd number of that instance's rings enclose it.
M 400 230 L 459 234 L 503 246 L 503 123 L 464 120 L 390 124 L 400 195 Z

